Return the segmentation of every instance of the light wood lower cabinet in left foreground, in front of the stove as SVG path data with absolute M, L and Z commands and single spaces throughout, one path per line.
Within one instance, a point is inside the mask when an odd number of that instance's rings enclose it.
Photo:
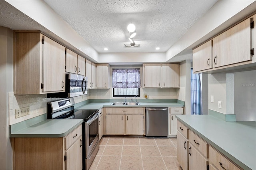
M 82 125 L 60 138 L 12 138 L 14 170 L 82 170 Z

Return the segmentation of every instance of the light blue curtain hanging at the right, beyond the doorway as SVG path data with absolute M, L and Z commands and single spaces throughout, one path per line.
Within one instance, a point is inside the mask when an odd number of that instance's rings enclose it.
M 191 69 L 191 115 L 202 114 L 201 74 L 193 74 Z

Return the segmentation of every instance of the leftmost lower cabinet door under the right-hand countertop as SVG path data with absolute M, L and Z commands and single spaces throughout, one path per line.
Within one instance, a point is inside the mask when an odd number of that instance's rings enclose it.
M 177 131 L 177 160 L 183 170 L 188 170 L 188 140 Z

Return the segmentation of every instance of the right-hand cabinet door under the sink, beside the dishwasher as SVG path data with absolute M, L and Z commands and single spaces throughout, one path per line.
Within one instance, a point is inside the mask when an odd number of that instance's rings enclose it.
M 125 115 L 126 134 L 144 134 L 143 115 Z

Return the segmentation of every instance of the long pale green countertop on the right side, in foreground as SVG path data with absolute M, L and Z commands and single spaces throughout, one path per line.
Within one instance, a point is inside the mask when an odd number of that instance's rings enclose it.
M 241 168 L 256 170 L 256 122 L 226 122 L 210 115 L 176 118 Z

